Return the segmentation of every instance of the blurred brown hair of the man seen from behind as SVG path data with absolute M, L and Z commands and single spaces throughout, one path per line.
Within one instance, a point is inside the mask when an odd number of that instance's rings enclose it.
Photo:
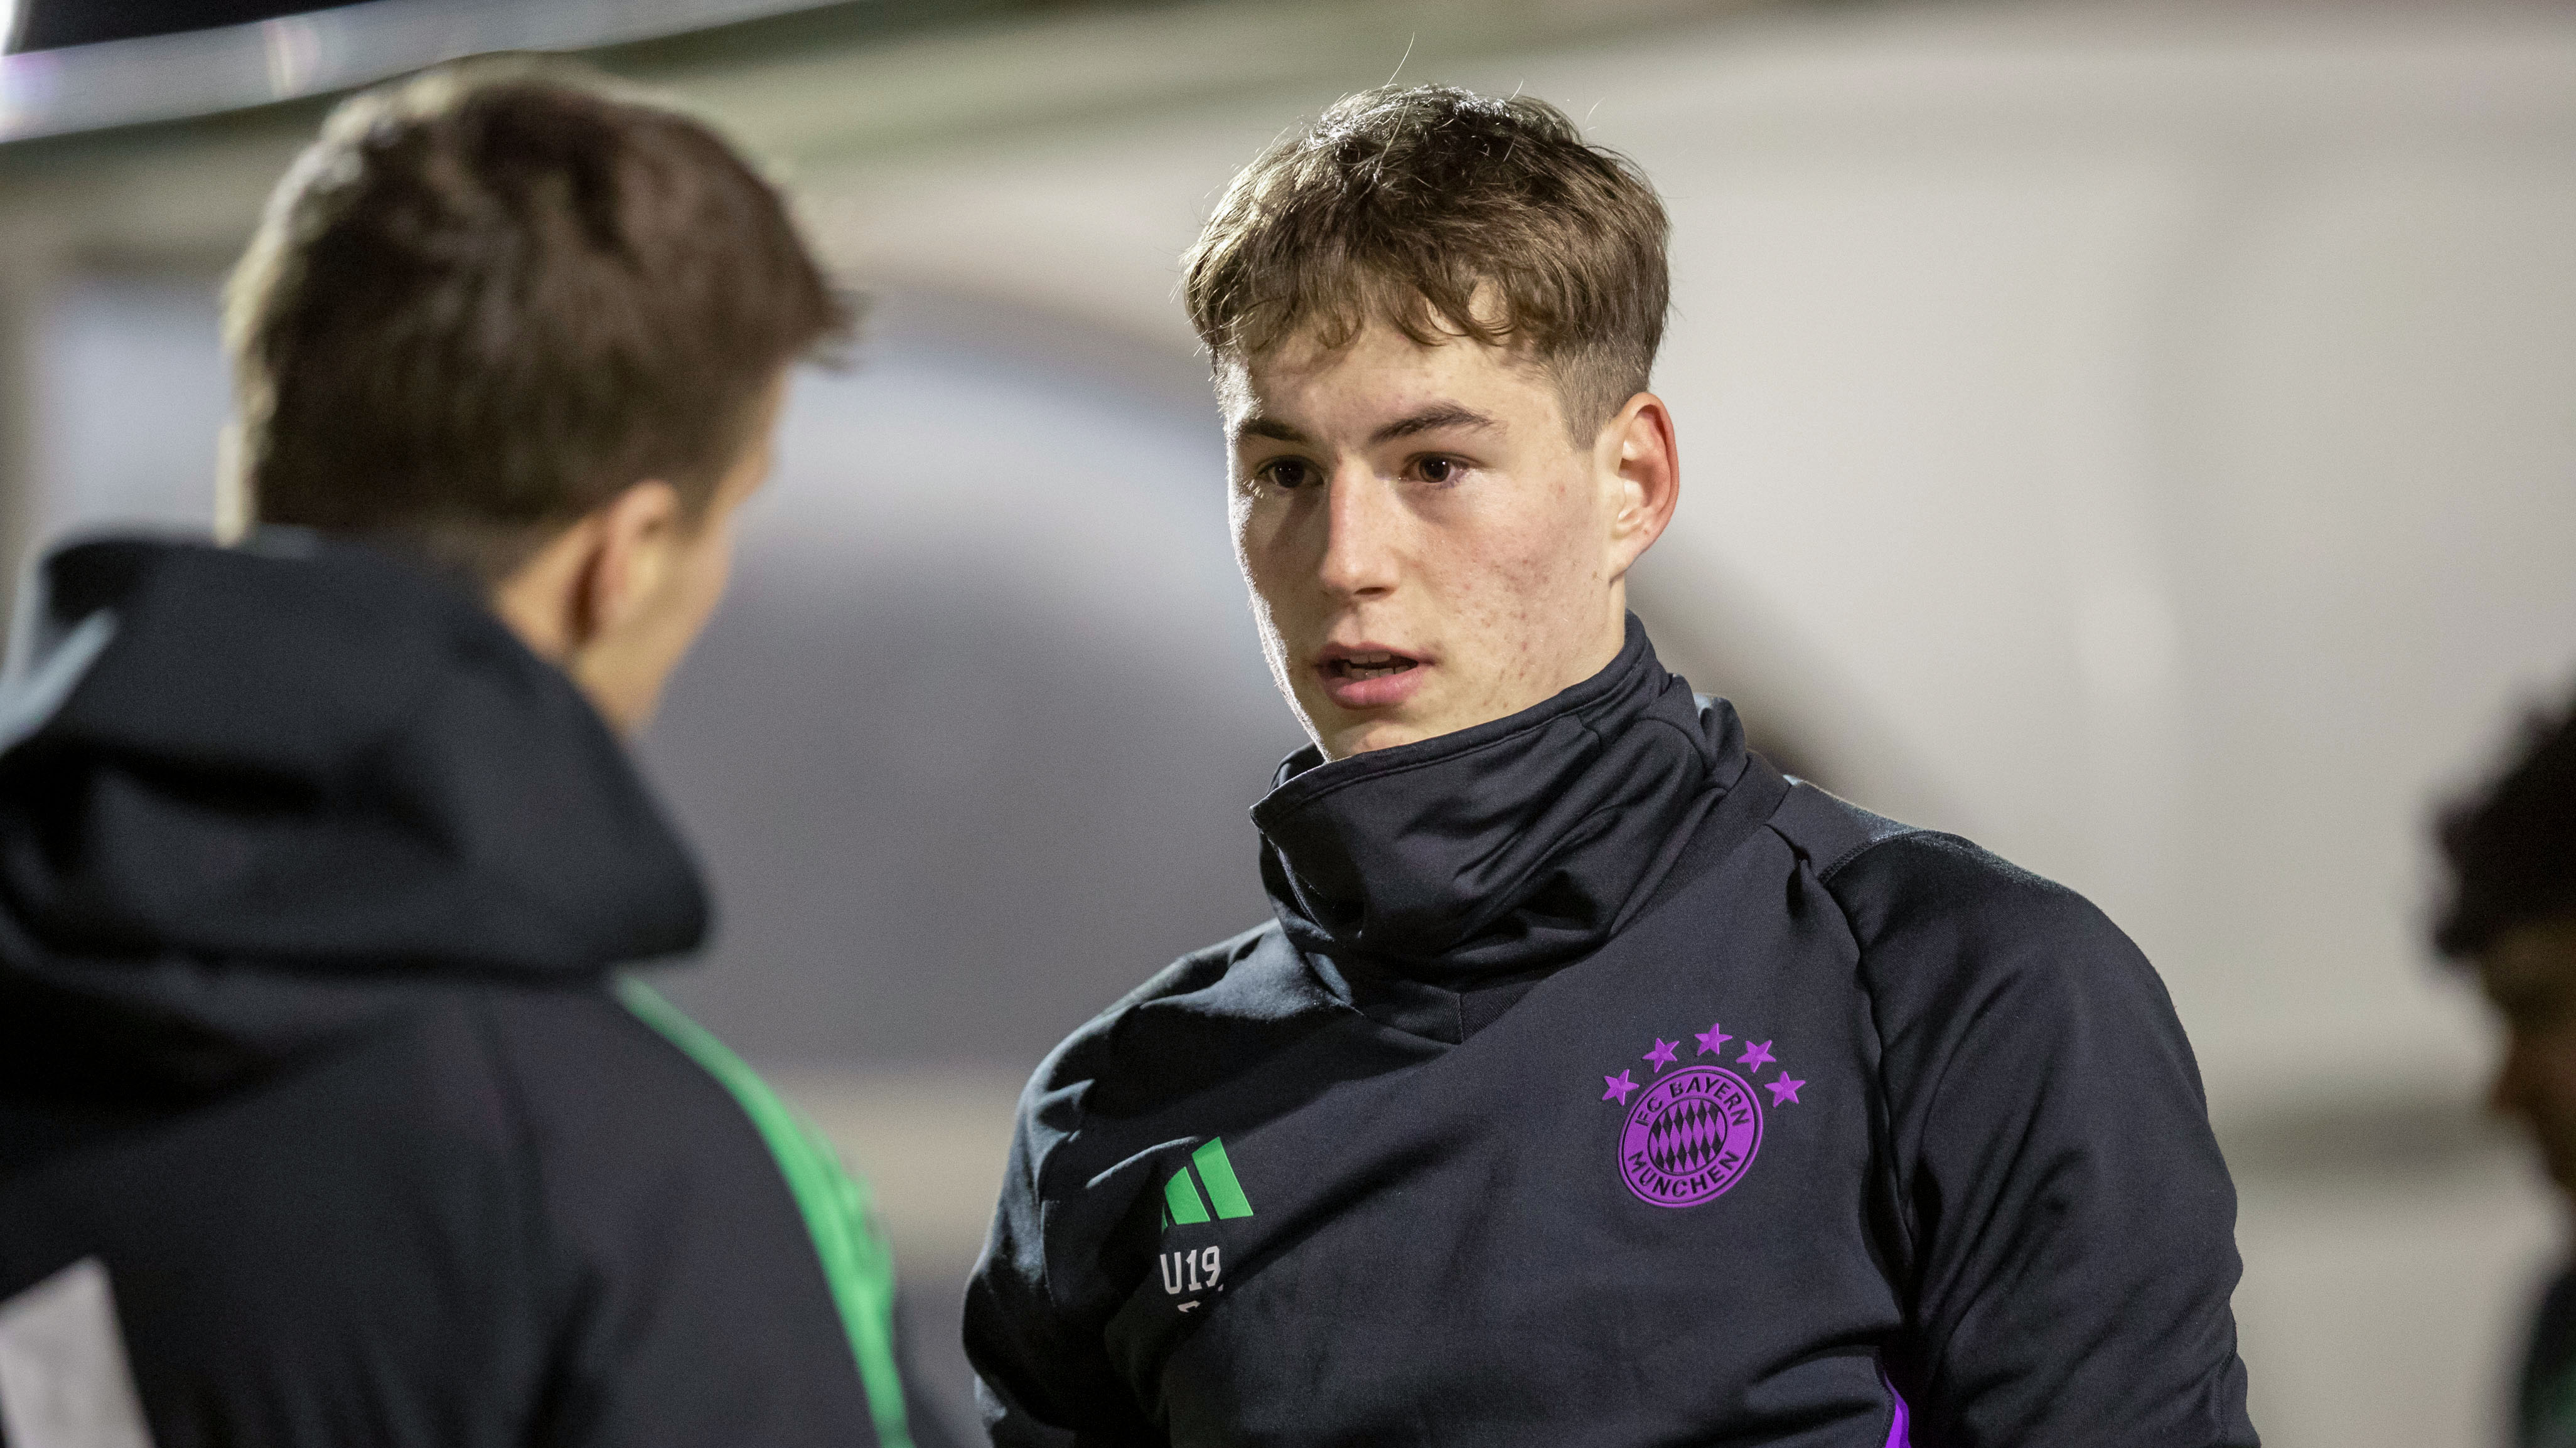
M 783 366 L 848 327 L 778 191 L 564 64 L 345 100 L 234 271 L 234 520 L 497 582 L 623 487 L 696 515 Z

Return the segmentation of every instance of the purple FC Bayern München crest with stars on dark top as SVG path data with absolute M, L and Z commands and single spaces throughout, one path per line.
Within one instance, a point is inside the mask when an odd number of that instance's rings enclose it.
M 1628 1190 L 1649 1206 L 1700 1206 L 1726 1196 L 1726 1188 L 1744 1180 L 1762 1149 L 1762 1100 L 1752 1082 L 1762 1080 L 1762 1067 L 1780 1067 L 1770 1041 L 1744 1041 L 1744 1054 L 1734 1056 L 1736 1069 L 1726 1069 L 1726 1043 L 1734 1036 L 1710 1023 L 1692 1031 L 1703 1056 L 1721 1064 L 1685 1067 L 1682 1041 L 1654 1038 L 1654 1051 L 1638 1056 L 1651 1067 L 1643 1082 L 1636 1067 L 1615 1077 L 1602 1077 L 1602 1100 L 1615 1100 L 1628 1110 L 1628 1123 L 1618 1134 L 1618 1175 Z M 1752 1072 L 1752 1080 L 1739 1072 Z M 1669 1074 L 1667 1074 L 1669 1072 Z M 1780 1069 L 1762 1082 L 1772 1092 L 1772 1108 L 1798 1105 L 1798 1087 L 1806 1082 Z M 1638 1095 L 1643 1092 L 1643 1095 Z M 1628 1098 L 1636 1095 L 1636 1105 Z

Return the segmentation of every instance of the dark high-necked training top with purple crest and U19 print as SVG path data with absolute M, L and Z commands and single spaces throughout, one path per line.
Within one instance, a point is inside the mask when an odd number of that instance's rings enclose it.
M 2197 1069 L 2076 894 L 1785 781 L 1633 618 L 1252 819 L 1275 920 L 1023 1095 L 997 1445 L 2254 1443 Z

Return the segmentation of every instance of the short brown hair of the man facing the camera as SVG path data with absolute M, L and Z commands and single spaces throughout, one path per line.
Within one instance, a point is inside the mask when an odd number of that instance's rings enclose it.
M 1564 111 L 1450 85 L 1363 90 L 1234 178 L 1185 258 L 1216 361 L 1368 322 L 1525 348 L 1587 443 L 1646 389 L 1672 283 L 1664 204 Z

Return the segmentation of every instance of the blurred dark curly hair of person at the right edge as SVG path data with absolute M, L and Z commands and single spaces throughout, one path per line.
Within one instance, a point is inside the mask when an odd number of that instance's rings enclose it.
M 2434 946 L 2473 958 L 2504 933 L 2576 920 L 2576 703 L 2532 714 L 2504 773 L 2442 812 L 2450 902 Z

